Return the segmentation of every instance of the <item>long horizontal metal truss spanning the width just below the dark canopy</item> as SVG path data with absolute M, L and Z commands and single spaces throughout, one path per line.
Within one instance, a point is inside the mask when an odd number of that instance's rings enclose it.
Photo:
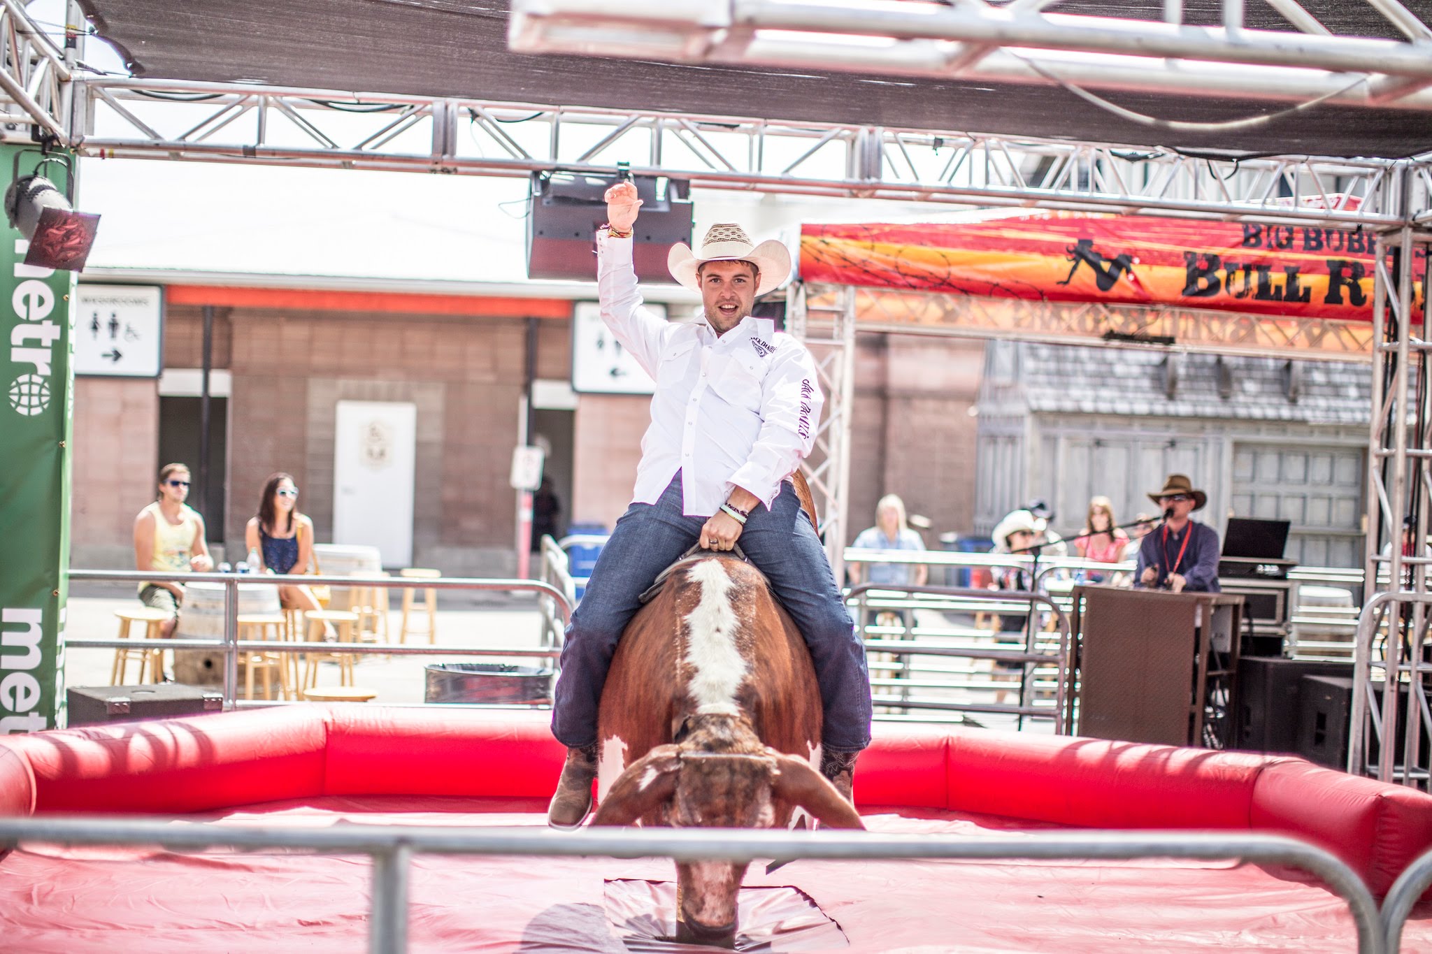
M 1432 195 L 1412 163 L 1280 156 L 1216 163 L 1167 149 L 971 132 L 785 123 L 660 110 L 76 79 L 82 154 L 528 176 L 670 176 L 707 189 L 961 206 L 1400 225 Z M 176 116 L 175 103 L 183 103 Z M 169 106 L 162 127 L 155 103 Z M 1403 187 L 1403 183 L 1409 187 Z

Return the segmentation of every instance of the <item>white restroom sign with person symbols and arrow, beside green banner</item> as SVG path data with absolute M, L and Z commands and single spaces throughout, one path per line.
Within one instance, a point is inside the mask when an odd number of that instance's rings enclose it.
M 74 297 L 74 373 L 158 378 L 163 328 L 158 285 L 80 285 Z

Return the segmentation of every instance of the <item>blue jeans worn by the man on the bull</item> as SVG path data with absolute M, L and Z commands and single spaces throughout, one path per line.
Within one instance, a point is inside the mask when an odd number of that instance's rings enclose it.
M 561 744 L 576 748 L 597 741 L 597 705 L 617 641 L 640 609 L 642 592 L 696 545 L 705 523 L 703 516 L 682 513 L 679 471 L 656 503 L 633 503 L 617 521 L 567 626 L 551 712 L 551 732 Z M 811 649 L 825 708 L 823 748 L 861 751 L 871 744 L 865 646 L 855 635 L 821 539 L 789 483 L 769 511 L 756 505 L 736 545 L 770 581 Z

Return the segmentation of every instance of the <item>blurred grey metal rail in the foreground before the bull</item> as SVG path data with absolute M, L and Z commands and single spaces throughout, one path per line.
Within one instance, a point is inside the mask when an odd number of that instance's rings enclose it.
M 676 861 L 776 860 L 1130 860 L 1240 858 L 1254 864 L 1295 865 L 1309 871 L 1348 903 L 1358 931 L 1358 950 L 1386 954 L 1378 905 L 1362 880 L 1323 848 L 1286 835 L 1254 832 L 1191 834 L 1028 832 L 1021 838 L 968 835 L 871 834 L 843 831 L 632 830 L 586 828 L 557 832 L 526 828 L 451 828 L 422 825 L 335 825 L 295 830 L 133 818 L 0 818 L 0 844 L 21 841 L 64 845 L 143 844 L 166 850 L 231 847 L 243 851 L 298 848 L 324 854 L 367 854 L 374 858 L 369 951 L 407 950 L 408 861 L 414 854 L 538 855 L 564 858 L 653 858 Z

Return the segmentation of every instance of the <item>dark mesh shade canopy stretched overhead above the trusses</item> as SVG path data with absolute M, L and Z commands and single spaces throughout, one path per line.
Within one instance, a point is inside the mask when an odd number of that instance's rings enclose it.
M 136 76 L 258 82 L 342 92 L 461 96 L 544 106 L 659 109 L 977 132 L 1093 143 L 1272 154 L 1403 157 L 1432 150 L 1432 113 L 1316 106 L 1237 132 L 1167 130 L 1120 119 L 1054 86 L 881 79 L 726 66 L 676 66 L 507 50 L 504 0 L 80 0 Z M 1303 4 L 1337 34 L 1403 39 L 1372 6 Z M 1406 6 L 1432 19 L 1432 0 Z M 1157 0 L 1051 4 L 1058 13 L 1158 19 Z M 1184 0 L 1184 20 L 1217 24 L 1219 6 Z M 1292 30 L 1249 4 L 1246 26 Z M 1157 69 L 1157 67 L 1150 67 Z M 1108 93 L 1167 120 L 1220 122 L 1287 109 L 1262 100 Z

